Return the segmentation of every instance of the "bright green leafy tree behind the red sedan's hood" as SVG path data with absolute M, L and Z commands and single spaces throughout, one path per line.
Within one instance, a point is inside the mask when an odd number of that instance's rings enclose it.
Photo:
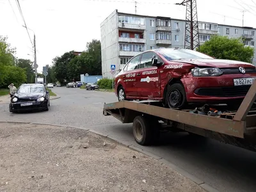
M 251 63 L 254 49 L 252 47 L 244 47 L 241 38 L 212 36 L 209 41 L 200 45 L 200 52 L 211 55 L 216 59 L 230 59 Z

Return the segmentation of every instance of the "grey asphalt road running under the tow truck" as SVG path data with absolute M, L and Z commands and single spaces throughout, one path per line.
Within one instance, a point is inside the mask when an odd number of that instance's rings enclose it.
M 104 102 L 117 101 L 114 93 L 54 87 L 61 96 L 51 101 L 48 112 L 10 114 L 0 105 L 0 121 L 47 122 L 93 129 L 117 140 L 140 147 L 183 168 L 219 191 L 256 191 L 256 153 L 188 134 L 164 133 L 161 145 L 143 147 L 132 135 L 132 125 L 102 115 Z

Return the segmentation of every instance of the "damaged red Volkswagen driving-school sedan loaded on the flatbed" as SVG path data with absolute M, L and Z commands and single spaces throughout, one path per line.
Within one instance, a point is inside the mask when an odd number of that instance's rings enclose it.
M 132 57 L 115 77 L 118 100 L 159 100 L 166 107 L 188 103 L 239 103 L 256 79 L 250 63 L 214 59 L 183 48 L 159 48 Z

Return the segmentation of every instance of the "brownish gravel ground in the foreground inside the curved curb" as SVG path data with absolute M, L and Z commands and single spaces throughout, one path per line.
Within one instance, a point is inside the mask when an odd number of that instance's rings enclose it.
M 83 129 L 0 123 L 0 191 L 204 191 L 168 166 Z

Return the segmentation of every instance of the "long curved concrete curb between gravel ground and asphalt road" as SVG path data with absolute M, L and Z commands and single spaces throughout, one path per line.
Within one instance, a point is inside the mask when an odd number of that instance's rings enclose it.
M 20 124 L 38 124 L 38 125 L 49 125 L 49 126 L 59 126 L 62 128 L 75 128 L 75 129 L 83 129 L 85 131 L 90 131 L 91 133 L 94 133 L 96 135 L 100 135 L 101 137 L 106 137 L 109 140 L 113 140 L 114 142 L 117 142 L 120 145 L 123 145 L 125 147 L 128 147 L 129 149 L 132 149 L 134 151 L 137 152 L 141 152 L 147 156 L 149 156 L 150 158 L 154 158 L 157 161 L 160 161 L 161 163 L 165 164 L 166 166 L 172 168 L 172 170 L 175 170 L 176 172 L 178 172 L 179 174 L 183 175 L 184 177 L 190 179 L 191 181 L 195 182 L 196 184 L 198 184 L 198 186 L 200 186 L 202 189 L 204 189 L 205 191 L 208 192 L 220 192 L 217 189 L 212 188 L 212 186 L 209 186 L 209 184 L 206 184 L 204 181 L 202 181 L 201 179 L 198 179 L 197 177 L 195 177 L 194 175 L 189 174 L 189 172 L 187 172 L 186 170 L 179 168 L 176 165 L 173 165 L 173 163 L 166 161 L 165 159 L 156 156 L 154 154 L 152 154 L 151 152 L 148 151 L 144 151 L 143 149 L 140 149 L 138 147 L 135 147 L 134 145 L 129 145 L 126 142 L 121 142 L 120 140 L 116 140 L 113 137 L 109 137 L 108 135 L 104 135 L 103 133 L 99 133 L 98 131 L 95 130 L 91 130 L 91 129 L 84 129 L 84 128 L 78 128 L 78 127 L 74 127 L 74 126 L 68 126 L 68 125 L 60 125 L 60 124 L 51 124 L 51 123 L 39 123 L 39 122 L 22 122 L 22 121 L 0 121 L 1 122 L 7 122 L 7 123 L 20 123 Z

